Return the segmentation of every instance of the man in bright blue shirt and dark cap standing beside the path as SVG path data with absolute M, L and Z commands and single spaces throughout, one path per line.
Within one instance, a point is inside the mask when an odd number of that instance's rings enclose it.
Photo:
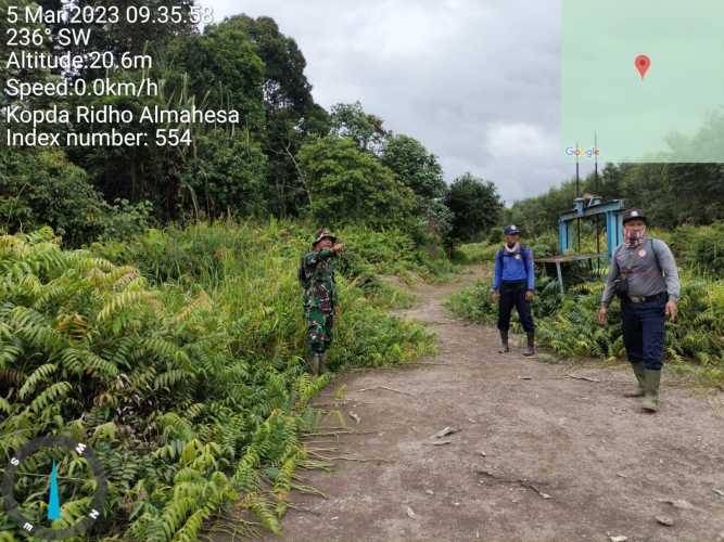
M 518 310 L 520 323 L 528 335 L 528 348 L 523 356 L 535 353 L 535 324 L 531 313 L 531 301 L 535 292 L 533 251 L 520 244 L 521 231 L 515 225 L 504 230 L 505 245 L 495 254 L 495 278 L 491 288 L 493 302 L 498 304 L 498 330 L 503 348 L 500 353 L 510 351 L 508 330 L 513 306 Z

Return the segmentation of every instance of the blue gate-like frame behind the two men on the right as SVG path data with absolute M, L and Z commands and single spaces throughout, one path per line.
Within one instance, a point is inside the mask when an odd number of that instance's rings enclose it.
M 579 219 L 592 218 L 599 215 L 606 217 L 606 237 L 608 245 L 608 257 L 613 257 L 613 250 L 623 242 L 623 211 L 625 210 L 622 199 L 612 199 L 602 203 L 599 197 L 592 197 L 586 202 L 583 197 L 575 198 L 575 207 L 563 212 L 558 219 L 558 246 L 560 254 L 573 248 L 573 227 Z

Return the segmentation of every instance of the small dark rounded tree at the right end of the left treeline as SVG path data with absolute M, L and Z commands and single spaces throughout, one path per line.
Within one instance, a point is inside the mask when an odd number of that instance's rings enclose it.
M 445 205 L 453 212 L 453 240 L 472 242 L 485 235 L 497 224 L 503 199 L 495 184 L 471 173 L 458 177 L 445 196 Z

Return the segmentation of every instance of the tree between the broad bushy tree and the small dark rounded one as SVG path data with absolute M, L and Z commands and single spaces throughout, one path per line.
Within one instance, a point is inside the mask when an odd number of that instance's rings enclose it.
M 418 140 L 403 133 L 392 136 L 382 150 L 381 160 L 418 196 L 436 199 L 445 194 L 443 168 Z

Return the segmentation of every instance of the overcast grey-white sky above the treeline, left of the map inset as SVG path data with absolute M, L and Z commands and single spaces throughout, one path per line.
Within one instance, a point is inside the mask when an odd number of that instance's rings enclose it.
M 470 171 L 510 204 L 570 178 L 560 133 L 559 0 L 203 0 L 216 22 L 274 17 L 317 103 L 360 101 L 421 141 L 449 182 Z

